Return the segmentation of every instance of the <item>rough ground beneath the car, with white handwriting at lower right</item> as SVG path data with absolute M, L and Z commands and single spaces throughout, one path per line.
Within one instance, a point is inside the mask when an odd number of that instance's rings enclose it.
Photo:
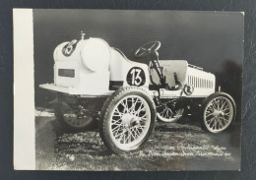
M 97 129 L 67 133 L 50 110 L 35 110 L 35 162 L 39 170 L 238 170 L 240 125 L 222 134 L 188 118 L 156 122 L 150 140 L 122 155 L 105 149 Z

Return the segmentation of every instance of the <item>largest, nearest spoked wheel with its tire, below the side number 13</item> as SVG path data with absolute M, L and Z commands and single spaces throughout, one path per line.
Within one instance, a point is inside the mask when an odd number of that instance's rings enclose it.
M 105 146 L 116 153 L 137 150 L 151 135 L 155 109 L 151 97 L 140 88 L 116 90 L 101 111 L 99 133 Z

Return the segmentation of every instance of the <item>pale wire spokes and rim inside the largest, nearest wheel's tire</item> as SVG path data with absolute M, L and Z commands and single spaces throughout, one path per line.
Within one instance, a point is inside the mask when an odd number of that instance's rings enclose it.
M 138 95 L 126 96 L 112 112 L 111 138 L 119 148 L 129 150 L 146 136 L 150 122 L 150 107 L 146 100 Z

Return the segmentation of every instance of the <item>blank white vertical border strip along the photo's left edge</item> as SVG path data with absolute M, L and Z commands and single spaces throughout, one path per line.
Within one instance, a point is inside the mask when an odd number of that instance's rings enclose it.
M 32 9 L 13 9 L 14 169 L 35 169 Z

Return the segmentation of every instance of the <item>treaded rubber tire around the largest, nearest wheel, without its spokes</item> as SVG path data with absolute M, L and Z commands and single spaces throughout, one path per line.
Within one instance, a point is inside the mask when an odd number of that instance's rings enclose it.
M 120 88 L 120 89 L 114 91 L 106 99 L 106 101 L 104 102 L 104 104 L 102 106 L 98 129 L 99 129 L 99 135 L 100 135 L 101 140 L 104 143 L 105 147 L 108 150 L 110 150 L 111 152 L 114 152 L 117 154 L 124 153 L 127 151 L 133 151 L 133 150 L 120 150 L 118 147 L 116 147 L 110 138 L 107 127 L 109 126 L 111 112 L 112 112 L 115 104 L 120 99 L 124 98 L 127 95 L 131 95 L 131 94 L 134 94 L 134 95 L 136 94 L 136 95 L 140 95 L 141 97 L 143 97 L 147 101 L 147 103 L 150 107 L 150 110 L 151 110 L 151 123 L 150 123 L 149 131 L 147 132 L 144 139 L 139 144 L 137 144 L 136 149 L 134 149 L 134 150 L 138 150 L 150 138 L 150 136 L 153 132 L 153 129 L 154 129 L 155 120 L 157 118 L 155 103 L 154 103 L 153 99 L 151 98 L 151 96 L 147 93 L 146 90 L 143 90 L 138 87 L 123 87 L 123 88 Z

